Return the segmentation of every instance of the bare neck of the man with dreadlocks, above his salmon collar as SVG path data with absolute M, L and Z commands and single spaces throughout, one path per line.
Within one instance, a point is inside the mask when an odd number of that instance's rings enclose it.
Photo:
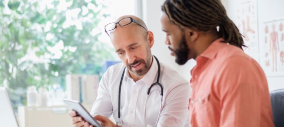
M 196 58 L 201 55 L 215 40 L 219 37 L 216 32 L 201 32 L 199 33 L 200 38 L 196 40 Z M 196 60 L 194 58 L 194 60 Z

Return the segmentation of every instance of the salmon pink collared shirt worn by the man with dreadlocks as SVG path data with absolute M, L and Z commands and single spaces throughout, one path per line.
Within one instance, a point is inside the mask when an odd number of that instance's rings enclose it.
M 274 127 L 266 76 L 240 48 L 220 38 L 191 70 L 192 127 Z

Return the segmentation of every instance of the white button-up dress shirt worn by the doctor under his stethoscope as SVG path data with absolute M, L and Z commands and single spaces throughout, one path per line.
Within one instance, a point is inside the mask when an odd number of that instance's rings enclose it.
M 189 81 L 176 70 L 160 63 L 160 81 L 163 86 L 163 102 L 157 127 L 184 127 L 188 125 L 188 100 L 190 96 Z M 118 93 L 121 76 L 125 65 L 123 63 L 110 66 L 99 83 L 98 96 L 91 109 L 91 115 L 113 117 L 118 122 Z M 141 80 L 134 82 L 129 71 L 125 70 L 121 86 L 120 114 L 123 127 L 154 126 L 160 110 L 160 87 L 154 85 L 148 96 L 147 90 L 157 80 L 158 65 L 153 63 Z M 144 117 L 145 112 L 145 117 Z M 144 120 L 145 118 L 145 120 Z M 145 121 L 145 125 L 144 125 Z

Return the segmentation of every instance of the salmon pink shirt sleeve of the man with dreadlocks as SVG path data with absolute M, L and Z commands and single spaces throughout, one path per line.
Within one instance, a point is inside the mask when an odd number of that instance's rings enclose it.
M 220 99 L 220 127 L 260 127 L 262 93 L 266 77 L 252 59 L 227 59 L 216 75 L 215 93 Z

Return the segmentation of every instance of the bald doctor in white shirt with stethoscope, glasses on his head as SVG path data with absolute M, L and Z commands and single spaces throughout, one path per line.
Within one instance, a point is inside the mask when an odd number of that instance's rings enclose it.
M 151 54 L 154 36 L 144 22 L 126 15 L 107 24 L 105 31 L 123 63 L 102 76 L 90 113 L 94 119 L 106 127 L 188 126 L 189 83 Z M 75 112 L 70 115 L 73 127 L 89 127 Z M 111 115 L 116 124 L 104 122 Z

